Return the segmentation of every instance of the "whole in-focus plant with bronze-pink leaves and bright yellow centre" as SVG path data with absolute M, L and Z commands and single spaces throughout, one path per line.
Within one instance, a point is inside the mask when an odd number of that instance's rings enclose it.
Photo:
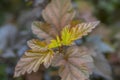
M 64 6 L 65 4 L 66 6 Z M 14 77 L 24 75 L 26 72 L 36 72 L 42 63 L 47 68 L 54 63 L 54 59 L 59 59 L 55 60 L 55 65 L 60 67 L 59 75 L 62 80 L 86 80 L 89 78 L 91 69 L 88 64 L 92 65 L 91 55 L 87 53 L 86 49 L 71 44 L 91 32 L 99 22 L 71 25 L 74 14 L 70 0 L 52 0 L 47 5 L 42 15 L 48 24 L 34 22 L 32 27 L 33 33 L 44 40 L 28 41 L 31 50 L 26 51 L 17 63 Z M 45 30 L 47 27 L 48 30 Z M 56 34 L 50 34 L 51 31 Z M 58 58 L 55 55 L 59 55 Z M 71 72 L 66 74 L 68 71 Z

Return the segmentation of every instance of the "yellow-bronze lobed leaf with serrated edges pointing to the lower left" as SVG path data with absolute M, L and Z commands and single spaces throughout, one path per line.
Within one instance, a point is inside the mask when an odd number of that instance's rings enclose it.
M 51 64 L 54 52 L 51 49 L 48 49 L 44 42 L 30 40 L 28 41 L 28 45 L 32 50 L 26 51 L 23 57 L 19 60 L 15 67 L 14 77 L 19 77 L 26 72 L 36 72 L 42 63 L 44 63 L 46 68 Z

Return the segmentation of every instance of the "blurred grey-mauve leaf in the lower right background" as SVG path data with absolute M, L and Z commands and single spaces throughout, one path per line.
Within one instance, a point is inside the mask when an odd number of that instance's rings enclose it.
M 112 80 L 112 69 L 102 53 L 97 53 L 97 56 L 93 57 L 94 59 L 94 73 L 98 74 L 108 80 Z

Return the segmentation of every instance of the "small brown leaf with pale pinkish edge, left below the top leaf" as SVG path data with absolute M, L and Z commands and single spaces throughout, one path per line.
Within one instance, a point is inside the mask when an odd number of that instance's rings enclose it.
M 52 39 L 55 37 L 56 30 L 52 28 L 49 24 L 35 21 L 32 23 L 32 31 L 35 35 L 42 39 Z

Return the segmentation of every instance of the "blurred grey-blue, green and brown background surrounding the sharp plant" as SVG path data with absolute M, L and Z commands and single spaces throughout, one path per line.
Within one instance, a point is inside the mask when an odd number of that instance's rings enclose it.
M 56 68 L 13 78 L 14 68 L 26 49 L 26 41 L 36 38 L 31 23 L 43 21 L 42 10 L 51 0 L 0 0 L 0 80 L 60 80 Z M 120 80 L 120 0 L 72 0 L 76 19 L 99 20 L 100 25 L 76 44 L 96 51 L 91 80 Z

